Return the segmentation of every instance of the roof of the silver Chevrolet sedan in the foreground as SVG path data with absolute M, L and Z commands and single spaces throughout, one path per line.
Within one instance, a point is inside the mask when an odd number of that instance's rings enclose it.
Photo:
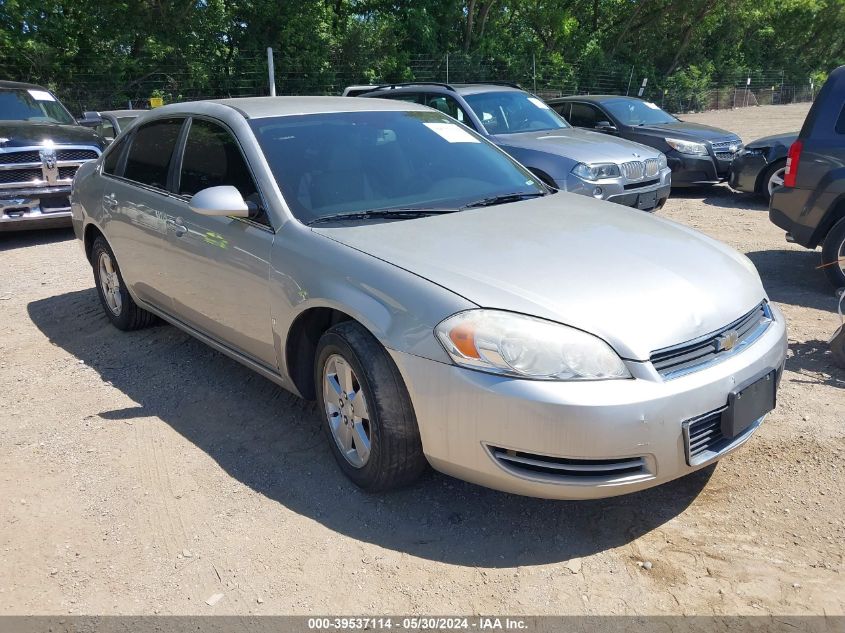
M 156 108 L 156 113 L 193 114 L 202 111 L 202 104 L 218 104 L 237 110 L 247 119 L 263 119 L 297 114 L 329 114 L 333 112 L 428 112 L 430 108 L 405 101 L 361 99 L 359 97 L 239 97 L 186 101 Z

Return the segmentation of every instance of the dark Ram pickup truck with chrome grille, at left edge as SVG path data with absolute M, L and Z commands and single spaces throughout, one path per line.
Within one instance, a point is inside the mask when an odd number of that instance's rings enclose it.
M 104 147 L 49 90 L 0 81 L 0 232 L 70 226 L 73 176 Z

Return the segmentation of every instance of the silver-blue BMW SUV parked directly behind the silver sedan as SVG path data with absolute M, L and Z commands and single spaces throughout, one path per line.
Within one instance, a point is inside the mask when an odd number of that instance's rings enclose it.
M 391 84 L 362 97 L 429 106 L 486 136 L 544 183 L 644 211 L 669 197 L 672 172 L 658 150 L 569 125 L 515 84 Z

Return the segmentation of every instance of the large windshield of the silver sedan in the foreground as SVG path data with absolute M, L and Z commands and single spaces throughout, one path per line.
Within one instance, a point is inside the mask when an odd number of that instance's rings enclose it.
M 439 112 L 308 114 L 250 125 L 304 223 L 375 209 L 457 210 L 546 191 L 504 152 Z

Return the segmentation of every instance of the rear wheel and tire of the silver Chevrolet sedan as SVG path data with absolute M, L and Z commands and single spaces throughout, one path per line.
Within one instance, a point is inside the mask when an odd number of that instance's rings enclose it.
M 123 331 L 140 330 L 155 323 L 156 317 L 147 312 L 129 296 L 120 266 L 114 252 L 102 236 L 94 240 L 91 248 L 91 265 L 94 268 L 94 286 L 109 321 Z

